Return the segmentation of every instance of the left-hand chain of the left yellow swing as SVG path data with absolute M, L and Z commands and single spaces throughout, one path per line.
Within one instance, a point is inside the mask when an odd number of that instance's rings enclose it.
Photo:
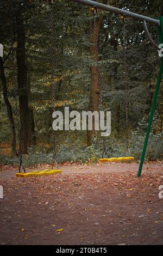
M 17 126 L 17 137 L 18 137 L 18 156 L 20 158 L 20 164 L 18 172 L 21 172 L 21 166 L 23 167 L 24 173 L 26 173 L 26 169 L 23 166 L 23 159 L 22 159 L 22 145 L 21 145 L 21 123 L 20 123 L 20 115 L 18 112 L 18 104 L 17 104 L 17 86 L 16 86 L 16 49 L 17 49 L 17 41 L 15 41 L 15 32 L 14 32 L 14 25 L 12 22 L 12 14 L 11 14 L 11 4 L 10 0 L 8 1 L 8 8 L 9 8 L 9 23 L 10 23 L 10 34 L 13 36 L 14 41 L 11 42 L 11 60 L 12 60 L 12 81 L 14 86 L 14 101 L 15 101 L 15 114 L 16 114 L 16 126 Z M 15 21 L 14 21 L 15 22 Z M 13 31 L 12 31 L 13 27 Z

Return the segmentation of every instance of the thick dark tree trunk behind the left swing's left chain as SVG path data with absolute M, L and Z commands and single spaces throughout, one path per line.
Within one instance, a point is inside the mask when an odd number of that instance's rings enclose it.
M 21 149 L 22 154 L 28 153 L 32 145 L 32 131 L 30 123 L 30 109 L 28 106 L 27 66 L 25 52 L 25 31 L 23 20 L 20 16 L 16 19 L 17 25 L 17 83 L 20 104 L 21 121 Z

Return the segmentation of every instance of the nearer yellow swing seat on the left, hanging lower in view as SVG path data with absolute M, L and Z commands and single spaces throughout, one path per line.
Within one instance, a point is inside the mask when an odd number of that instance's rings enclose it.
M 45 169 L 45 170 L 34 170 L 33 172 L 29 173 L 16 173 L 16 177 L 18 178 L 26 178 L 29 176 L 43 176 L 43 175 L 53 175 L 62 173 L 61 170 L 52 170 L 52 169 Z

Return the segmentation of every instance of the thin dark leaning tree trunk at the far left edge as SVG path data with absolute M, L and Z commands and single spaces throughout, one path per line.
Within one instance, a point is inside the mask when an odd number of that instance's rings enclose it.
M 10 129 L 11 129 L 11 155 L 16 156 L 15 124 L 14 124 L 14 117 L 12 114 L 11 104 L 9 102 L 8 95 L 7 95 L 7 81 L 6 81 L 6 77 L 4 74 L 4 66 L 3 66 L 2 57 L 0 57 L 0 73 L 1 73 L 1 79 L 2 79 L 3 99 L 4 99 L 5 106 L 7 107 L 8 118 L 9 118 Z

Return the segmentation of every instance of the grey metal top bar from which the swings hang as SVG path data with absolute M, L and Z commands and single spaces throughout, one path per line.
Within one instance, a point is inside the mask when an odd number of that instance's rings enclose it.
M 126 14 L 128 17 L 131 17 L 131 18 L 134 18 L 134 19 L 137 19 L 137 20 L 142 20 L 142 21 L 145 20 L 149 23 L 153 23 L 154 25 L 160 26 L 160 21 L 159 20 L 155 20 L 155 19 L 152 19 L 150 17 L 146 17 L 146 16 L 136 14 L 136 13 L 131 13 L 130 11 L 126 11 L 126 10 L 123 10 L 123 9 L 112 7 L 110 5 L 98 3 L 98 2 L 95 2 L 95 1 L 91 1 L 91 0 L 70 0 L 70 1 L 77 2 L 77 3 L 80 3 L 80 4 L 90 5 L 90 6 L 95 5 L 97 8 L 105 10 L 105 11 L 110 11 L 112 13 L 117 13 L 117 14 Z

